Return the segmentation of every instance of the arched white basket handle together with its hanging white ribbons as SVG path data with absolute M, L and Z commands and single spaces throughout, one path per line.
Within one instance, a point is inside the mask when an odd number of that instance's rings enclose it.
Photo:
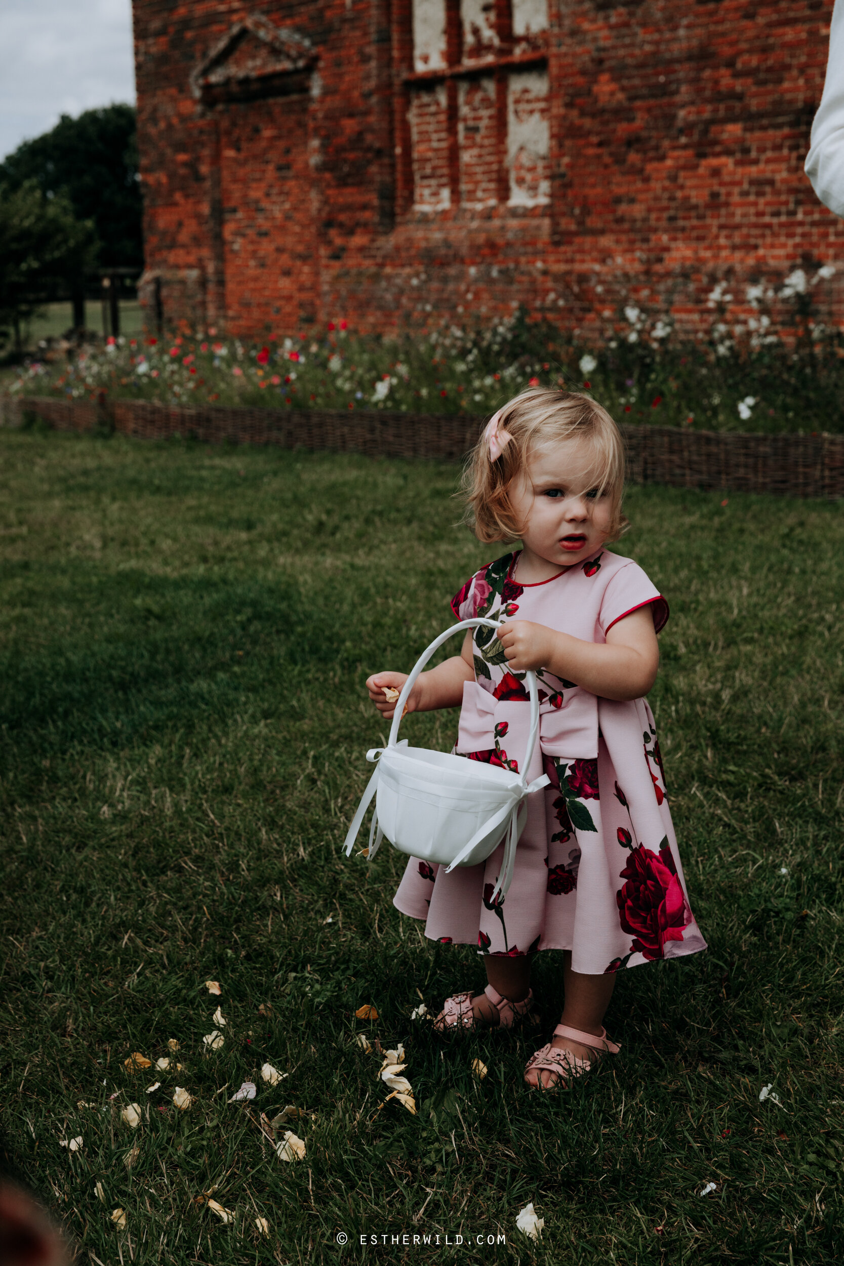
M 387 747 L 406 747 L 407 744 L 407 739 L 399 739 L 399 725 L 401 724 L 402 713 L 405 703 L 407 701 L 407 696 L 410 695 L 410 691 L 413 690 L 416 679 L 419 677 L 419 674 L 423 671 L 430 657 L 439 649 L 443 642 L 447 642 L 448 638 L 453 637 L 456 633 L 461 632 L 462 629 L 478 628 L 481 625 L 486 628 L 497 629 L 500 627 L 500 623 L 497 620 L 490 620 L 483 618 L 461 620 L 459 624 L 453 624 L 452 628 L 445 629 L 445 632 L 442 633 L 438 638 L 435 638 L 430 643 L 428 649 L 423 652 L 423 655 L 414 665 L 410 676 L 407 677 L 407 680 L 402 686 L 399 700 L 396 701 L 392 717 L 392 727 L 390 729 L 390 737 L 387 739 Z M 452 870 L 454 870 L 456 866 L 463 865 L 466 862 L 466 858 L 472 855 L 472 851 L 477 847 L 477 844 L 481 843 L 481 841 L 486 836 L 491 834 L 499 825 L 504 825 L 502 834 L 506 836 L 506 843 L 504 847 L 504 857 L 501 860 L 501 871 L 499 874 L 497 882 L 492 890 L 491 900 L 495 900 L 499 891 L 501 893 L 502 896 L 506 895 L 507 889 L 510 887 L 516 860 L 516 846 L 519 843 L 519 836 L 524 830 L 524 825 L 528 818 L 528 804 L 526 804 L 528 796 L 531 795 L 534 791 L 540 791 L 550 782 L 550 779 L 548 777 L 547 774 L 543 774 L 538 779 L 534 779 L 533 782 L 530 784 L 528 782 L 528 768 L 530 766 L 530 760 L 533 757 L 533 752 L 537 746 L 537 738 L 539 734 L 539 693 L 537 687 L 535 672 L 528 671 L 525 674 L 525 684 L 530 694 L 530 732 L 528 736 L 528 746 L 519 781 L 515 786 L 509 789 L 507 803 L 504 804 L 490 819 L 487 819 L 487 822 L 485 822 L 483 825 L 478 828 L 478 830 L 476 830 L 472 838 L 463 846 L 463 848 L 459 849 L 457 856 L 445 867 L 445 874 L 448 875 Z M 383 753 L 383 751 L 385 748 L 382 747 L 371 748 L 367 752 L 367 761 L 377 761 L 378 757 Z M 369 804 L 372 803 L 372 799 L 377 791 L 378 774 L 380 768 L 376 766 L 376 770 L 372 774 L 369 782 L 367 784 L 366 791 L 363 793 L 361 804 L 358 805 L 358 810 L 354 814 L 354 818 L 352 819 L 352 824 L 348 829 L 344 842 L 347 857 L 352 852 L 354 841 L 357 839 L 358 832 L 361 830 L 361 827 L 363 824 L 363 818 L 366 817 L 366 812 L 369 808 Z M 372 860 L 372 857 L 378 851 L 382 839 L 383 839 L 383 830 L 378 824 L 378 814 L 376 809 L 376 812 L 372 815 L 372 825 L 369 827 L 369 847 L 367 851 L 367 856 L 369 860 Z M 499 838 L 499 843 L 500 839 L 501 837 Z M 495 847 L 497 847 L 497 843 Z M 491 849 L 491 852 L 492 851 L 493 849 Z

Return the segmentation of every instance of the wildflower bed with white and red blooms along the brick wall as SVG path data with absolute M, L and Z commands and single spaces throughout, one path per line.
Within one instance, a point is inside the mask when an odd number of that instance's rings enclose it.
M 605 319 L 597 343 L 529 320 L 524 310 L 390 337 L 354 335 L 345 323 L 321 337 L 254 344 L 178 334 L 121 339 L 61 367 L 30 366 L 15 390 L 481 415 L 534 384 L 591 391 L 619 422 L 638 425 L 841 432 L 844 335 L 816 313 L 817 287 L 829 277 L 829 267 L 811 279 L 797 270 L 777 291 L 750 286 L 738 311 L 734 296 L 716 287 L 693 338 L 668 315 L 629 304 Z

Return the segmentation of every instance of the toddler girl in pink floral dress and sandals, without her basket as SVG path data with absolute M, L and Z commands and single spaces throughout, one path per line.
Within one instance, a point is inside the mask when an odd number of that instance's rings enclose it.
M 511 886 L 492 900 L 504 844 L 447 875 L 411 857 L 394 904 L 425 934 L 477 944 L 488 985 L 454 994 L 439 1029 L 538 1023 L 530 965 L 562 950 L 566 1006 L 525 1081 L 550 1086 L 616 1053 L 604 1028 L 621 967 L 705 950 L 688 905 L 666 799 L 659 743 L 645 700 L 668 604 L 630 558 L 606 549 L 621 514 L 617 427 L 588 396 L 525 391 L 476 446 L 464 480 L 476 536 L 521 539 L 452 600 L 458 620 L 504 619 L 466 634 L 461 655 L 421 674 L 409 711 L 461 706 L 458 755 L 520 772 L 526 747 L 525 672 L 539 685 L 540 729 Z M 385 718 L 406 674 L 369 677 Z M 390 691 L 392 694 L 392 691 Z M 395 695 L 392 696 L 395 699 Z M 518 760 L 514 760 L 514 756 Z

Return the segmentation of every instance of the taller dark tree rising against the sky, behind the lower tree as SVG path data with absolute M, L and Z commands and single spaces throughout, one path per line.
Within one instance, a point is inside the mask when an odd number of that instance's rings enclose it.
M 24 141 L 0 163 L 0 185 L 34 181 L 51 197 L 65 192 L 77 220 L 92 220 L 102 267 L 143 267 L 135 111 L 130 105 L 63 114 L 52 132 Z

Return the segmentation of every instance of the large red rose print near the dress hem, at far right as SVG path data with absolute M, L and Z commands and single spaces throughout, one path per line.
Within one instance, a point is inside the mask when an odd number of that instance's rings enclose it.
M 682 941 L 691 910 L 677 877 L 668 838 L 659 844 L 659 856 L 639 844 L 631 849 L 621 871 L 624 887 L 616 894 L 621 927 L 634 938 L 631 953 L 648 961 L 664 957 L 669 941 Z

